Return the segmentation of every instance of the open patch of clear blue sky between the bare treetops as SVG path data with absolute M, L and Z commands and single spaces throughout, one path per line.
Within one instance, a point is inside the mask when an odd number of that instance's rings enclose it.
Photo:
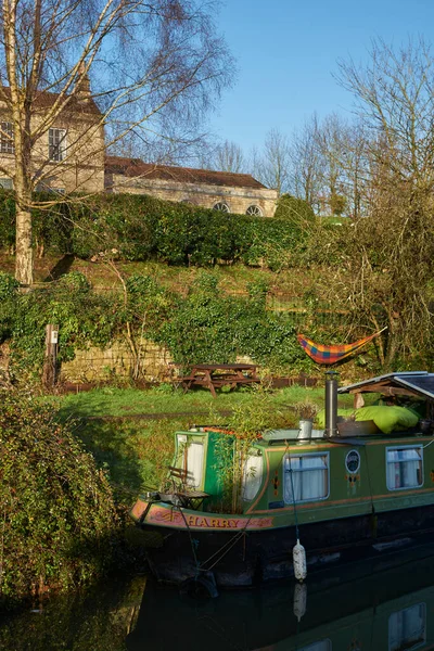
M 271 128 L 291 135 L 314 113 L 349 115 L 336 61 L 366 61 L 372 38 L 434 47 L 434 0 L 226 0 L 218 24 L 239 72 L 210 128 L 247 153 Z

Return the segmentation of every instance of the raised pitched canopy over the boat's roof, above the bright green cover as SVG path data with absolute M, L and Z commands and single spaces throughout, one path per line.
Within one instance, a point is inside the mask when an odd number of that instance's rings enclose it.
M 413 396 L 434 400 L 434 373 L 427 371 L 406 371 L 387 373 L 341 386 L 337 393 L 381 393 L 388 396 Z

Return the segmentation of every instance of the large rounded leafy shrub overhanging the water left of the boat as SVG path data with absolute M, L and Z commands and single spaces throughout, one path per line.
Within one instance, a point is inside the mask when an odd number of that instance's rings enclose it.
M 112 492 L 51 408 L 0 398 L 0 599 L 67 589 L 98 577 L 117 526 Z

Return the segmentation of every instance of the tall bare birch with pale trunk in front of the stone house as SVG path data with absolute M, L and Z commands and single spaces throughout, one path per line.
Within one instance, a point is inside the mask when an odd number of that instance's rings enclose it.
M 3 0 L 0 17 L 0 137 L 13 152 L 1 173 L 14 183 L 16 278 L 28 285 L 35 188 L 89 157 L 102 128 L 102 155 L 132 130 L 144 141 L 173 139 L 176 126 L 195 131 L 230 82 L 232 61 L 213 2 Z M 93 115 L 86 128 L 52 132 L 53 155 L 43 154 L 50 129 L 80 106 Z

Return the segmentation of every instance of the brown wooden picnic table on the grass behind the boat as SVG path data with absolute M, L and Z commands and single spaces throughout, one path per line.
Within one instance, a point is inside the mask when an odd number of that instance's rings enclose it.
M 221 386 L 243 386 L 259 383 L 260 379 L 253 363 L 196 363 L 190 375 L 179 378 L 181 386 L 187 392 L 192 386 L 205 386 L 216 397 L 216 388 Z

